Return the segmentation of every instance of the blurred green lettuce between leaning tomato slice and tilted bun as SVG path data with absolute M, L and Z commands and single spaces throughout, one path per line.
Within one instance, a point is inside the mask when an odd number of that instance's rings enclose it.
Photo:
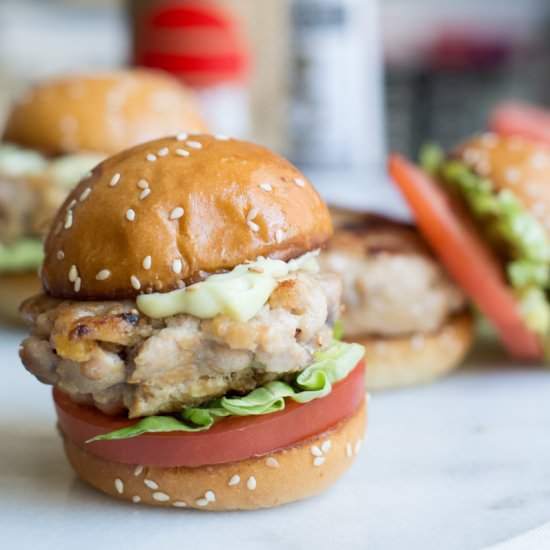
M 504 258 L 523 319 L 533 331 L 546 336 L 550 332 L 550 238 L 543 225 L 512 191 L 495 190 L 489 179 L 464 162 L 445 160 L 437 146 L 426 146 L 421 162 L 462 198 L 480 230 Z

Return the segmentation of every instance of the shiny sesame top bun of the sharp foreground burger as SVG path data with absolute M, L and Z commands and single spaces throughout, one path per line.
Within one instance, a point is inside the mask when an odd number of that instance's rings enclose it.
M 46 292 L 77 300 L 166 292 L 258 256 L 288 260 L 332 234 L 289 162 L 223 136 L 178 135 L 99 164 L 57 213 Z

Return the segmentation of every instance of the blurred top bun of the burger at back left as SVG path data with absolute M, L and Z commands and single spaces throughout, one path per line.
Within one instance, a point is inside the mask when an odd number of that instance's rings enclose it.
M 13 106 L 3 140 L 47 155 L 112 154 L 181 130 L 207 131 L 191 92 L 168 74 L 128 69 L 34 86 Z

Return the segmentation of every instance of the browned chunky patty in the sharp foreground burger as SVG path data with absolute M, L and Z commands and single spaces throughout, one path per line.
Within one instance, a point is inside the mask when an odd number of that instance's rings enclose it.
M 170 413 L 306 367 L 332 341 L 340 297 L 337 276 L 305 271 L 280 281 L 248 322 L 224 315 L 154 320 L 132 300 L 41 295 L 23 305 L 32 332 L 20 356 L 39 380 L 105 413 Z

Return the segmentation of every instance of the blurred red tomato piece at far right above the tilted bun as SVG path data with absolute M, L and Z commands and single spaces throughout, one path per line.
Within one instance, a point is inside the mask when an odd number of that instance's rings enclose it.
M 497 105 L 489 118 L 489 128 L 506 136 L 522 136 L 550 145 L 550 112 L 526 103 Z

